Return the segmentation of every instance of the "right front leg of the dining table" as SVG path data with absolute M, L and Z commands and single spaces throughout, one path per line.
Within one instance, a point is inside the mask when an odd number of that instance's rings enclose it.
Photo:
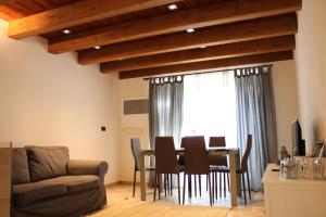
M 238 205 L 238 184 L 237 184 L 237 153 L 229 153 L 229 175 L 230 175 L 230 199 L 231 206 Z

